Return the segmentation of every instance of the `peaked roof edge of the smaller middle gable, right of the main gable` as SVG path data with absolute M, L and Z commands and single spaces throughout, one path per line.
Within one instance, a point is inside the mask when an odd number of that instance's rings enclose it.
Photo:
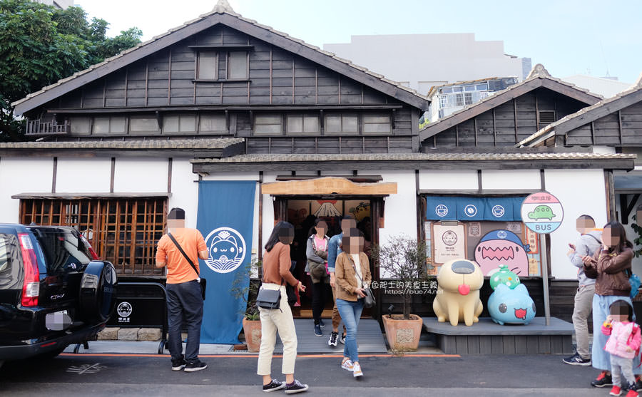
M 435 123 L 430 123 L 426 128 L 419 131 L 419 138 L 425 140 L 427 138 L 441 133 L 444 130 L 452 127 L 453 125 L 462 123 L 466 120 L 474 118 L 476 115 L 484 113 L 486 110 L 495 108 L 496 106 L 506 103 L 511 99 L 517 98 L 518 96 L 523 95 L 529 91 L 532 91 L 539 87 L 549 88 L 552 91 L 562 90 L 566 88 L 565 95 L 571 96 L 572 98 L 586 103 L 587 105 L 593 105 L 593 103 L 598 102 L 603 99 L 597 94 L 591 93 L 590 91 L 576 87 L 574 84 L 566 83 L 559 78 L 554 78 L 551 76 L 549 71 L 546 71 L 546 68 L 541 63 L 538 63 L 534 66 L 529 76 L 521 83 L 514 84 L 508 88 L 497 91 L 492 96 L 488 96 L 477 103 L 468 105 L 462 110 L 448 115 L 440 119 Z M 571 88 L 571 90 L 568 90 Z

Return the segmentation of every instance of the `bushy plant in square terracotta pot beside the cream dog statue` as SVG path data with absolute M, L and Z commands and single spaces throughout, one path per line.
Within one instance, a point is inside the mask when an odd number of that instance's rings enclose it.
M 399 294 L 403 298 L 403 314 L 382 316 L 386 338 L 392 351 L 414 351 L 419 346 L 423 321 L 410 314 L 414 289 L 428 280 L 426 244 L 404 235 L 392 236 L 387 244 L 374 247 L 372 257 L 382 274 L 401 282 Z M 421 287 L 419 287 L 421 288 Z

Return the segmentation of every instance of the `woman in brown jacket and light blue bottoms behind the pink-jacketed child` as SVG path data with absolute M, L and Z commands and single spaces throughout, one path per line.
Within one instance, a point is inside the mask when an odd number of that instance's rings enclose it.
M 602 246 L 593 257 L 582 257 L 586 277 L 595 280 L 595 295 L 593 295 L 593 350 L 591 361 L 593 368 L 598 368 L 601 373 L 591 382 L 591 386 L 611 386 L 611 359 L 604 346 L 608 336 L 602 334 L 602 323 L 610 314 L 609 306 L 613 301 L 623 300 L 633 306 L 631 297 L 631 284 L 628 283 L 631 274 L 631 260 L 633 259 L 633 244 L 626 239 L 626 232 L 620 222 L 608 222 L 602 232 Z M 642 373 L 642 368 L 636 368 L 634 373 Z

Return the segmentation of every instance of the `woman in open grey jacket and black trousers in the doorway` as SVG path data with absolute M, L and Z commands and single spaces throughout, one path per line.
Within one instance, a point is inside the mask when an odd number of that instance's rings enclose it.
M 327 273 L 327 242 L 330 240 L 325 232 L 327 223 L 325 220 L 317 218 L 312 232 L 307 238 L 307 256 L 306 272 L 310 273 L 312 279 L 312 318 L 315 321 L 315 335 L 323 336 L 321 327 L 325 326 L 321 319 L 323 306 L 325 306 L 325 285 L 328 284 Z

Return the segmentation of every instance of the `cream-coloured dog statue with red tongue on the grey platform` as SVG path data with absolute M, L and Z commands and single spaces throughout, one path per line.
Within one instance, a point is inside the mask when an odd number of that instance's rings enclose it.
M 479 289 L 484 284 L 481 267 L 467 259 L 453 259 L 439 268 L 437 297 L 432 309 L 437 321 L 449 320 L 452 326 L 464 321 L 467 326 L 479 321 L 484 306 L 479 299 Z

